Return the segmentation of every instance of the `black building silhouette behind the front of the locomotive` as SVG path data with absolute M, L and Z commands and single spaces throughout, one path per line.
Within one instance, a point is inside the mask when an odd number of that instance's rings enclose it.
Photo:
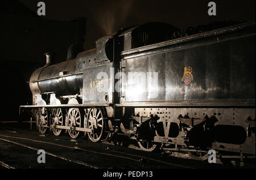
M 46 64 L 44 53 L 52 52 L 55 63 L 65 61 L 69 45 L 84 41 L 86 19 L 64 22 L 0 14 L 0 20 L 0 95 L 4 104 L 0 120 L 13 120 L 18 119 L 20 105 L 32 102 L 27 82 L 36 68 Z

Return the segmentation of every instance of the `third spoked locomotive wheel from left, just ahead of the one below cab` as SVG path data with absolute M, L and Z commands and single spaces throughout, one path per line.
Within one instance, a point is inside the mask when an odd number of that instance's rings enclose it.
M 68 118 L 66 125 L 68 125 L 71 128 L 81 127 L 81 120 L 82 119 L 79 108 L 70 108 L 68 110 Z M 69 129 L 68 133 L 72 139 L 76 139 L 77 136 L 79 136 L 79 131 L 76 131 L 75 129 Z

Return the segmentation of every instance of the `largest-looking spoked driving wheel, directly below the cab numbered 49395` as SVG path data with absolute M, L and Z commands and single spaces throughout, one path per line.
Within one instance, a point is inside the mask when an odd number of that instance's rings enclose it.
M 96 143 L 101 140 L 104 132 L 104 116 L 100 108 L 91 108 L 85 120 L 85 127 L 92 129 L 88 132 L 89 139 Z

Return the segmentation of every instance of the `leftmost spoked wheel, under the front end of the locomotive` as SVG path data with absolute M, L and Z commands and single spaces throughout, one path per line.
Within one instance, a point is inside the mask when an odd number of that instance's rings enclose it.
M 45 107 L 39 108 L 38 113 L 36 114 L 36 126 L 38 131 L 43 135 L 47 131 L 47 127 L 43 127 L 48 124 L 48 112 Z

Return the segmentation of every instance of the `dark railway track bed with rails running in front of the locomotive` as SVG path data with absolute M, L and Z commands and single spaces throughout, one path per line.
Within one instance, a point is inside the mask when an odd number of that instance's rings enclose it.
M 72 167 L 74 168 L 76 165 L 79 166 L 79 168 L 89 169 L 225 168 L 222 165 L 213 165 L 208 164 L 208 162 L 171 157 L 167 154 L 148 153 L 123 146 L 92 143 L 81 138 L 70 140 L 69 137 L 65 135 L 52 136 L 51 134 L 47 134 L 42 137 L 38 132 L 27 131 L 20 128 L 2 126 L 0 130 L 1 129 L 0 143 L 2 141 L 7 144 L 30 149 L 34 151 L 34 154 L 36 154 L 35 151 L 44 149 L 48 157 L 51 156 L 51 158 L 65 161 L 67 164 L 73 164 Z M 3 164 L 1 164 L 2 167 L 6 168 L 5 164 L 7 165 L 8 163 L 3 161 Z M 9 166 L 16 168 L 13 164 Z M 53 168 L 58 168 L 58 166 L 53 166 Z M 230 168 L 230 166 L 226 168 Z

